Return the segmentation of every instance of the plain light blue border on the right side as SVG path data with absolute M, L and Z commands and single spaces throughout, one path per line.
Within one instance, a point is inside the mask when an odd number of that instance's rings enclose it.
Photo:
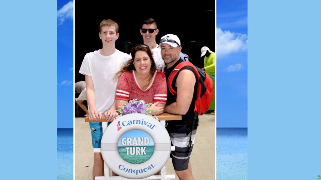
M 320 7 L 248 1 L 249 180 L 321 175 Z

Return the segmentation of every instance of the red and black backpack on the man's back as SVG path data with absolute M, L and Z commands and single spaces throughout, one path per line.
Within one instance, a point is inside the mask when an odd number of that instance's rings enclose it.
M 169 78 L 167 80 L 167 85 L 169 87 L 169 91 L 171 94 L 176 95 L 176 91 L 172 88 L 172 82 L 176 74 L 183 68 L 183 67 L 190 67 L 187 69 L 193 69 L 194 75 L 197 77 L 197 98 L 195 101 L 195 108 L 194 112 L 197 112 L 198 115 L 204 114 L 211 105 L 213 95 L 214 95 L 214 88 L 213 82 L 210 76 L 205 73 L 200 68 L 194 66 L 189 61 L 184 61 L 179 63 L 173 71 L 170 73 Z

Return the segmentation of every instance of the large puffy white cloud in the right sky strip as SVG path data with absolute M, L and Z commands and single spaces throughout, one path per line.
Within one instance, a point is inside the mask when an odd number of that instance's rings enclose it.
M 217 28 L 217 56 L 224 56 L 247 50 L 247 35 Z

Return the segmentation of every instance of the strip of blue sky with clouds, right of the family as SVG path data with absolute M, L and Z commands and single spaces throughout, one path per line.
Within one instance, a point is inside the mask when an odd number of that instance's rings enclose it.
M 247 127 L 247 0 L 217 0 L 216 11 L 216 125 Z

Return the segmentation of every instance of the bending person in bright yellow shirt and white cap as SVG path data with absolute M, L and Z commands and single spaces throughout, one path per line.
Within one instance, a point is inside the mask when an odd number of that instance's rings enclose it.
M 208 47 L 204 46 L 201 49 L 201 57 L 202 56 L 204 56 L 204 68 L 202 68 L 202 70 L 212 76 L 213 87 L 215 89 L 215 53 Z M 213 96 L 210 108 L 206 113 L 215 113 L 215 95 Z

